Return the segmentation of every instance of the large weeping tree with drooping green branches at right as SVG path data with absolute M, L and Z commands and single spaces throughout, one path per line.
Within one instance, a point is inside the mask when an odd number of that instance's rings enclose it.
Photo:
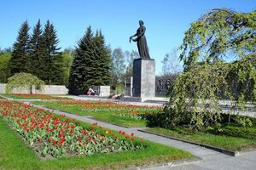
M 212 9 L 191 24 L 180 49 L 184 71 L 169 91 L 168 126 L 218 123 L 222 99 L 241 111 L 255 105 L 256 11 Z

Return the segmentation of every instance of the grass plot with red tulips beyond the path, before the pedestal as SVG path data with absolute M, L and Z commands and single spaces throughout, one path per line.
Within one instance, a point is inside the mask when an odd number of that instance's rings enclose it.
M 125 127 L 145 127 L 145 114 L 154 114 L 162 110 L 161 106 L 129 105 L 125 102 L 56 100 L 34 101 L 35 105 L 66 111 L 79 116 L 93 116 L 96 120 L 111 122 Z

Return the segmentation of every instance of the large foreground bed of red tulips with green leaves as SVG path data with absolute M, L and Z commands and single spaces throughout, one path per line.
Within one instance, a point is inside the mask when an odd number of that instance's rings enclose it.
M 40 156 L 90 156 L 147 147 L 133 133 L 113 133 L 97 123 L 84 128 L 75 120 L 19 102 L 0 101 L 0 118 Z

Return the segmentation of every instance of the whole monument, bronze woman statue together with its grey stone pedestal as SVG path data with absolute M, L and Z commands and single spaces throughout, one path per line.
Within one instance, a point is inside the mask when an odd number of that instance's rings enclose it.
M 137 42 L 140 54 L 139 59 L 133 60 L 132 96 L 140 97 L 142 100 L 155 96 L 155 62 L 154 59 L 150 59 L 148 53 L 145 31 L 143 20 L 140 20 L 136 34 L 130 37 L 130 42 Z

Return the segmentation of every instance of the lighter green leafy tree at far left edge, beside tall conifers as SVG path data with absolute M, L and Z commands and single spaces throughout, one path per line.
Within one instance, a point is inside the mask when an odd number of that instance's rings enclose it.
M 7 82 L 7 78 L 9 77 L 9 68 L 8 63 L 11 58 L 11 53 L 0 54 L 0 82 Z

